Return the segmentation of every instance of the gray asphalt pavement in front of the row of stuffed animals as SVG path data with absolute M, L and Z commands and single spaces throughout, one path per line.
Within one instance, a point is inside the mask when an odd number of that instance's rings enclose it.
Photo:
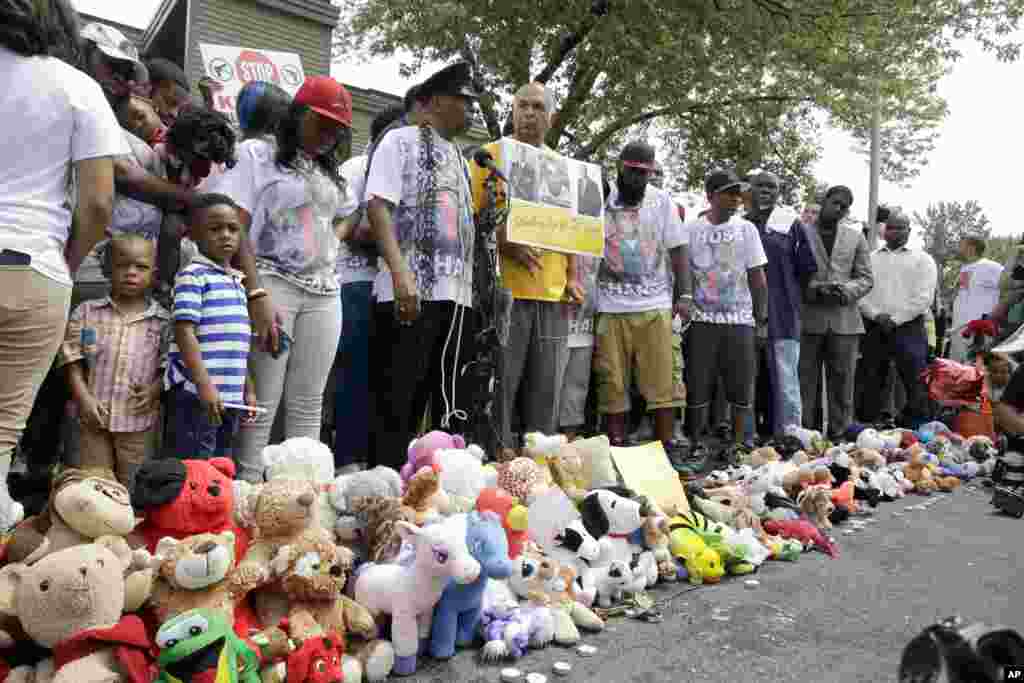
M 863 530 L 834 529 L 837 559 L 769 561 L 754 589 L 742 578 L 659 586 L 652 596 L 665 621 L 610 620 L 584 636 L 598 648 L 592 657 L 553 645 L 484 666 L 466 650 L 450 661 L 421 658 L 406 680 L 496 683 L 515 667 L 549 683 L 892 681 L 903 646 L 941 617 L 1024 630 L 1024 520 L 995 514 L 989 499 L 979 486 L 883 503 Z M 571 665 L 567 677 L 553 673 L 556 661 Z

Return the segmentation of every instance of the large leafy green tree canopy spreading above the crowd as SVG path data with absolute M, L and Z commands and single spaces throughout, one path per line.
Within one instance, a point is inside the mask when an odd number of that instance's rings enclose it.
M 559 105 L 548 143 L 607 158 L 656 125 L 687 187 L 721 163 L 811 182 L 823 121 L 866 140 L 886 102 L 883 175 L 920 170 L 946 113 L 934 83 L 973 37 L 1000 58 L 1024 0 L 339 0 L 335 53 L 473 62 L 501 134 L 516 87 L 546 83 Z M 646 127 L 646 128 L 645 128 Z M 744 168 L 745 167 L 745 168 Z

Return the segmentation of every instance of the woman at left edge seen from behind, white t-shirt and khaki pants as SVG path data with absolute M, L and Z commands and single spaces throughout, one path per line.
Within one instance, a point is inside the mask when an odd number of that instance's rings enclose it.
M 11 455 L 126 153 L 99 86 L 75 68 L 78 36 L 68 0 L 0 0 L 0 528 L 24 514 L 7 493 Z

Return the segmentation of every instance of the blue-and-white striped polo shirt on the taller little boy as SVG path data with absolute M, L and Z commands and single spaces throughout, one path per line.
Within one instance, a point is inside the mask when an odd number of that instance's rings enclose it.
M 241 272 L 198 254 L 174 281 L 171 317 L 196 326 L 203 365 L 225 403 L 243 402 L 246 388 L 252 328 L 242 279 Z M 171 342 L 164 384 L 168 389 L 181 384 L 199 393 L 176 340 Z

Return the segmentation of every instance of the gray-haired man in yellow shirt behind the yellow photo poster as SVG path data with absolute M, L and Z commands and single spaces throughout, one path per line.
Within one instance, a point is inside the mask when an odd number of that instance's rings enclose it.
M 554 100 L 544 85 L 522 86 L 512 103 L 513 139 L 545 150 L 553 109 Z M 493 142 L 483 148 L 500 166 L 500 145 Z M 489 172 L 476 164 L 470 167 L 473 205 L 479 211 L 484 206 L 483 181 Z M 513 187 L 513 194 L 517 189 Z M 497 195 L 498 206 L 505 206 L 508 193 L 500 181 Z M 583 288 L 574 256 L 512 244 L 506 239 L 505 225 L 498 226 L 498 250 L 503 284 L 514 298 L 501 368 L 502 441 L 507 447 L 518 447 L 523 434 L 554 434 L 558 429 L 561 380 L 568 355 L 567 304 L 583 302 Z

